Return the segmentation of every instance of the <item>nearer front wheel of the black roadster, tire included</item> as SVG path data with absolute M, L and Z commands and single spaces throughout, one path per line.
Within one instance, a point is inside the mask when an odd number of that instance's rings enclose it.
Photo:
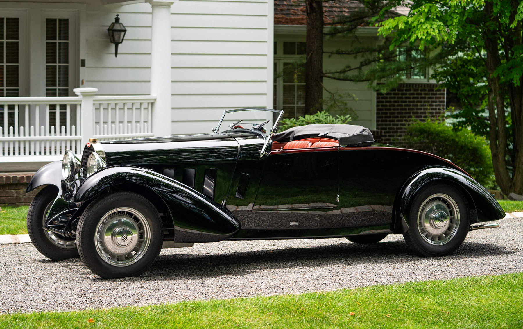
M 149 200 L 118 191 L 87 206 L 78 221 L 76 239 L 80 257 L 100 277 L 138 276 L 162 249 L 163 225 Z

